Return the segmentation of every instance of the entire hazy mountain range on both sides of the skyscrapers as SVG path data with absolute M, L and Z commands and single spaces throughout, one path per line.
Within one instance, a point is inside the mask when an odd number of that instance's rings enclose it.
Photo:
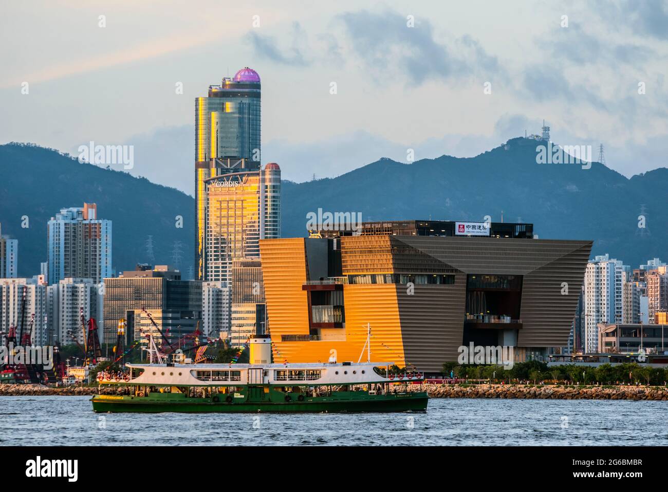
M 534 223 L 542 238 L 594 239 L 593 254 L 610 253 L 637 267 L 668 259 L 668 169 L 625 176 L 594 162 L 537 164 L 536 145 L 508 140 L 472 158 L 441 156 L 412 164 L 381 158 L 337 178 L 283 182 L 283 237 L 303 237 L 307 213 L 361 212 L 363 220 L 429 219 Z M 184 176 L 190 178 L 190 175 Z M 193 257 L 192 197 L 118 170 L 30 144 L 0 146 L 0 223 L 19 239 L 19 275 L 35 275 L 46 259 L 46 223 L 61 208 L 98 204 L 114 221 L 113 266 L 176 263 L 188 277 Z M 639 215 L 645 228 L 639 228 Z M 21 217 L 29 227 L 21 228 Z M 183 227 L 176 227 L 176 217 Z M 152 236 L 153 258 L 147 248 Z

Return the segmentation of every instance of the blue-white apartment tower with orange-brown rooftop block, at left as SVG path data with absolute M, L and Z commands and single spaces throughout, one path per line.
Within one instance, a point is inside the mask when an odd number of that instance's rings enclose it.
M 64 278 L 95 283 L 112 275 L 112 221 L 98 219 L 95 203 L 61 209 L 47 225 L 49 285 Z

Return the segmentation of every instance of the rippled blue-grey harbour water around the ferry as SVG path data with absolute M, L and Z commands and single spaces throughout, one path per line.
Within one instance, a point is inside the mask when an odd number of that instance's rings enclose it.
M 668 445 L 668 402 L 434 398 L 426 414 L 95 414 L 0 397 L 0 445 Z

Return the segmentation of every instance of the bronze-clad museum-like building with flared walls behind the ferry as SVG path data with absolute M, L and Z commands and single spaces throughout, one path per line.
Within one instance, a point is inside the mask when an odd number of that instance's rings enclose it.
M 427 372 L 471 342 L 514 346 L 516 360 L 566 346 L 592 241 L 532 239 L 524 224 L 428 224 L 261 241 L 275 360 L 365 360 L 367 324 L 372 361 Z M 474 232 L 457 235 L 462 224 Z

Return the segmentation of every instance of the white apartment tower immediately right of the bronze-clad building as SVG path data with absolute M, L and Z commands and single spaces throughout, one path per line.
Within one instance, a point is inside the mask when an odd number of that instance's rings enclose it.
M 609 255 L 597 256 L 585 271 L 585 352 L 599 348 L 599 323 L 621 322 L 623 279 L 630 268 Z

